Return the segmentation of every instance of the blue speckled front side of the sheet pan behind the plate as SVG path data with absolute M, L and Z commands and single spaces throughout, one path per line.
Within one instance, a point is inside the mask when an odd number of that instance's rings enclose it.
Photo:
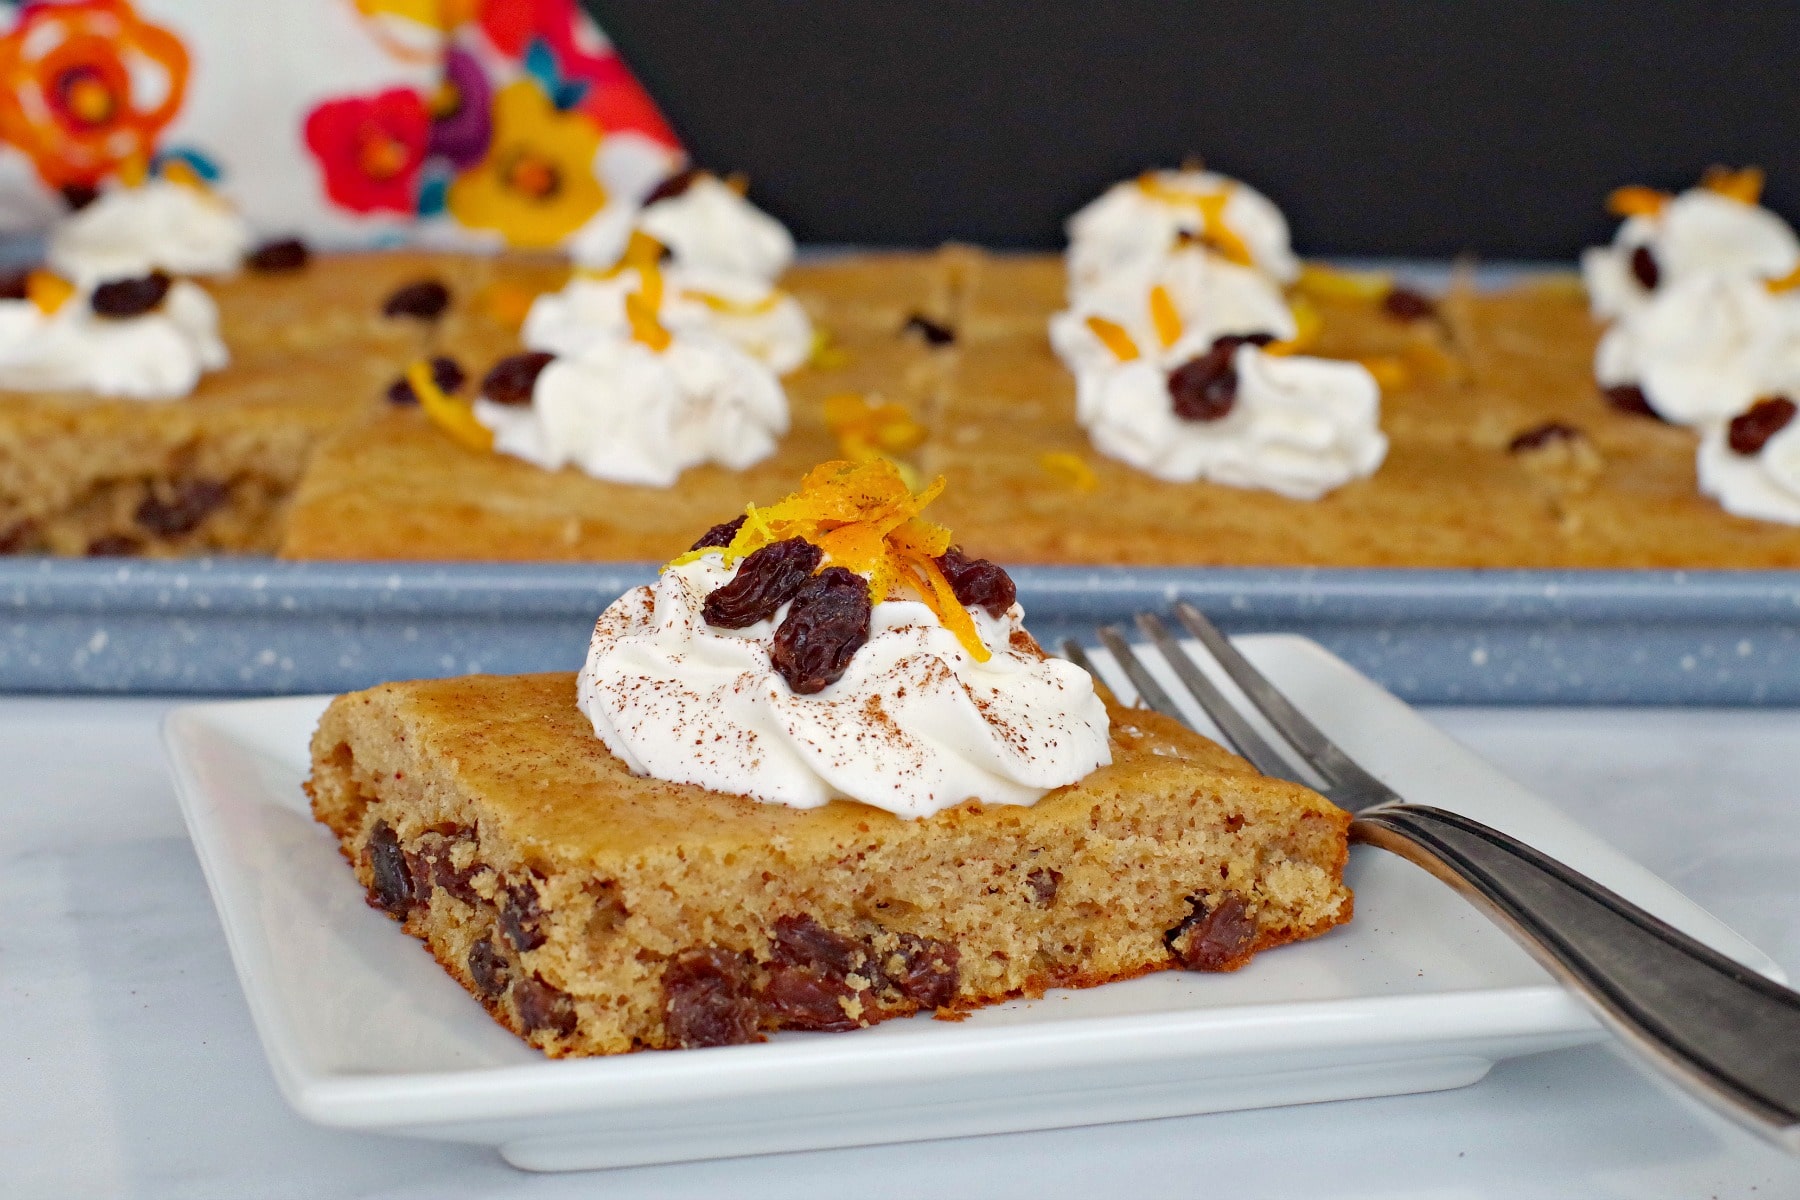
M 0 691 L 313 693 L 580 666 L 650 565 L 0 560 Z M 1013 572 L 1028 624 L 1192 599 L 1305 633 L 1415 703 L 1800 703 L 1800 572 Z

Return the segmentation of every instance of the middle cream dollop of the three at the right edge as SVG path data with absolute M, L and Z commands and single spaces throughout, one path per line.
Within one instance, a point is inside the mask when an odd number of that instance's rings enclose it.
M 1800 295 L 1746 275 L 1663 284 L 1595 351 L 1600 387 L 1634 383 L 1665 421 L 1706 426 L 1800 390 Z

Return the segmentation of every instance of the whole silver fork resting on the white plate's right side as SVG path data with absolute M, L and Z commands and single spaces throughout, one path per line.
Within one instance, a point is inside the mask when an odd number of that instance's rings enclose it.
M 1478 820 L 1402 801 L 1307 720 L 1192 604 L 1175 617 L 1354 815 L 1350 837 L 1438 876 L 1481 909 L 1663 1076 L 1800 1153 L 1800 993 L 1789 991 L 1588 876 Z M 1316 786 L 1213 685 L 1152 613 L 1138 626 L 1226 739 L 1265 775 Z M 1186 720 L 1120 626 L 1100 642 L 1145 705 Z M 1100 680 L 1073 640 L 1064 657 Z

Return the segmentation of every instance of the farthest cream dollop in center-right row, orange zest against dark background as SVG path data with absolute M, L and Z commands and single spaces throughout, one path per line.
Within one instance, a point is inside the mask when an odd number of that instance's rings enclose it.
M 1148 171 L 1114 184 L 1067 221 L 1069 295 L 1114 275 L 1141 282 L 1183 243 L 1238 257 L 1276 282 L 1300 275 L 1287 218 L 1256 189 L 1213 171 Z

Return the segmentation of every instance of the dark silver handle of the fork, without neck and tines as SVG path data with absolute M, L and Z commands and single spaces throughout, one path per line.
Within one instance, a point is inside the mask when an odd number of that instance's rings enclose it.
M 1800 1153 L 1800 995 L 1478 820 L 1384 804 L 1350 833 L 1460 891 L 1640 1058 Z

